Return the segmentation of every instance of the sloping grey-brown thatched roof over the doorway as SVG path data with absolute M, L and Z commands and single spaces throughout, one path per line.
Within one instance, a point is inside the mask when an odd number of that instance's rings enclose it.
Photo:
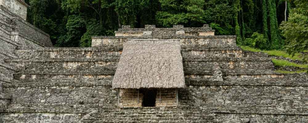
M 179 39 L 129 39 L 112 81 L 113 89 L 183 88 Z

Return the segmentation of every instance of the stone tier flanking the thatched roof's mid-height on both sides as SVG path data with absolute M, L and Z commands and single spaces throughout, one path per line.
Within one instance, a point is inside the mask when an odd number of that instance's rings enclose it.
M 5 62 L 21 70 L 116 69 L 118 58 L 13 58 Z M 274 69 L 270 58 L 184 58 L 184 69 Z

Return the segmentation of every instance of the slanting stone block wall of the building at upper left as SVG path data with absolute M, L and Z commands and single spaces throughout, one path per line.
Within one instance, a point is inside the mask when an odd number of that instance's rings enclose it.
M 0 83 L 10 83 L 17 69 L 4 62 L 16 58 L 16 49 L 52 47 L 49 35 L 30 25 L 26 19 L 27 5 L 22 0 L 0 1 Z

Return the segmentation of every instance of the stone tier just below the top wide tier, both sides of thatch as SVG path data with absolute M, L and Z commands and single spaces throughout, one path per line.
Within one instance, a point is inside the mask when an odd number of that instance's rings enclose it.
M 19 58 L 120 58 L 122 49 L 106 48 L 39 48 L 37 50 L 15 50 Z M 184 47 L 183 58 L 199 57 L 267 57 L 267 54 L 243 52 L 237 46 L 231 47 Z

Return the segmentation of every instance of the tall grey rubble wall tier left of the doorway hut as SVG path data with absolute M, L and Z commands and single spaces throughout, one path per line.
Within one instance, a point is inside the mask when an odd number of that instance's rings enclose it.
M 18 108 L 47 106 L 61 109 L 71 108 L 99 108 L 110 106 L 115 100 L 114 91 L 110 86 L 25 86 L 4 88 L 4 92 L 12 94 L 10 105 Z

